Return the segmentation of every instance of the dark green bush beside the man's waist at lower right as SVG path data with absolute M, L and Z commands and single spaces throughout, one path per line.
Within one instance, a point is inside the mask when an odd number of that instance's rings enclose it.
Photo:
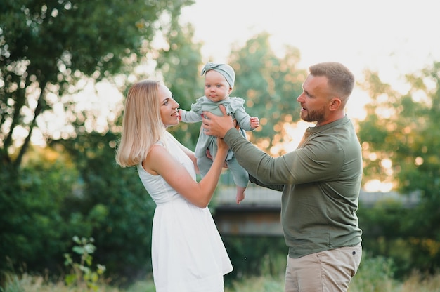
M 394 277 L 404 279 L 413 270 L 435 272 L 440 241 L 420 232 L 414 220 L 421 211 L 394 201 L 380 201 L 373 208 L 358 210 L 363 248 L 373 256 L 395 263 Z

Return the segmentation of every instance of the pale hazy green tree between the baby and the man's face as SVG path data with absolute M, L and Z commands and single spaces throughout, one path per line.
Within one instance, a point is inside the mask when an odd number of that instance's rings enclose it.
M 299 114 L 295 114 L 299 109 L 296 98 L 306 77 L 306 72 L 298 68 L 298 49 L 287 46 L 284 57 L 278 58 L 269 37 L 265 32 L 257 34 L 245 46 L 232 51 L 229 60 L 236 74 L 231 95 L 244 98 L 247 112 L 259 117 L 261 127 L 250 137 L 263 150 L 291 138 L 283 124 L 299 120 Z

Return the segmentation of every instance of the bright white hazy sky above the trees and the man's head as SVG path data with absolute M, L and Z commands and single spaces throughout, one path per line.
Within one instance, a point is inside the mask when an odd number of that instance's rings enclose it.
M 299 48 L 301 65 L 338 61 L 361 78 L 365 68 L 383 81 L 440 61 L 439 4 L 432 0 L 196 0 L 184 8 L 184 22 L 195 26 L 203 62 L 226 62 L 233 46 L 268 32 L 271 46 Z

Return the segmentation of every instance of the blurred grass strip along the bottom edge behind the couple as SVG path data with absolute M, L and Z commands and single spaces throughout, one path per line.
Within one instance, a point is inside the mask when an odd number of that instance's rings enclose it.
M 349 292 L 440 292 L 440 273 L 424 275 L 414 272 L 403 282 L 392 277 L 392 262 L 384 258 L 364 258 Z M 128 288 L 100 283 L 98 288 L 66 286 L 63 280 L 52 282 L 47 277 L 12 274 L 6 277 L 1 292 L 155 292 L 153 281 L 138 281 Z M 267 277 L 244 277 L 233 281 L 225 292 L 283 292 L 284 274 Z

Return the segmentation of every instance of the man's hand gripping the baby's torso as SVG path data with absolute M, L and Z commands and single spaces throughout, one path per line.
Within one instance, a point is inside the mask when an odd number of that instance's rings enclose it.
M 203 112 L 202 126 L 205 134 L 224 138 L 226 132 L 234 128 L 234 123 L 231 116 L 226 114 L 224 105 L 219 105 L 223 117 L 216 116 L 211 112 Z

